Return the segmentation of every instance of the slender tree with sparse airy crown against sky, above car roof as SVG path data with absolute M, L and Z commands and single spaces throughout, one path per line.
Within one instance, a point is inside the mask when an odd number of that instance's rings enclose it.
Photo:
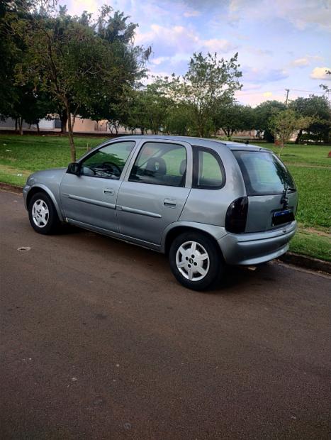
M 198 136 L 208 136 L 213 131 L 213 114 L 216 104 L 229 104 L 236 90 L 242 85 L 242 76 L 236 53 L 230 60 L 218 58 L 217 54 L 193 53 L 189 70 L 181 80 L 173 79 L 172 88 L 177 101 L 191 107 L 193 126 Z

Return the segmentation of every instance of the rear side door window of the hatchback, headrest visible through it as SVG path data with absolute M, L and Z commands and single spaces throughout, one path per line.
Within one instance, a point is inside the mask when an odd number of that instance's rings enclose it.
M 176 143 L 146 142 L 135 160 L 129 180 L 184 187 L 186 148 Z

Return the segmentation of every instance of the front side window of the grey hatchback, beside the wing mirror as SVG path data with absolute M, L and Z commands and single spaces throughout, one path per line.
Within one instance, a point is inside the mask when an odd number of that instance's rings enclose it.
M 123 141 L 100 148 L 82 161 L 81 174 L 118 180 L 134 146 L 134 141 Z

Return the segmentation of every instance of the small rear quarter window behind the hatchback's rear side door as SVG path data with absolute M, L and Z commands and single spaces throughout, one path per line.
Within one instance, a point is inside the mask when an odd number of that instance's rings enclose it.
M 225 185 L 225 171 L 219 155 L 209 148 L 193 148 L 193 187 L 220 189 Z

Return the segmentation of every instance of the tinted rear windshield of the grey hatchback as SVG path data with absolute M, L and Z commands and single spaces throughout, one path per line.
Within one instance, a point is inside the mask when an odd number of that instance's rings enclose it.
M 284 163 L 267 151 L 233 151 L 244 177 L 247 195 L 281 194 L 285 187 L 295 190 Z

